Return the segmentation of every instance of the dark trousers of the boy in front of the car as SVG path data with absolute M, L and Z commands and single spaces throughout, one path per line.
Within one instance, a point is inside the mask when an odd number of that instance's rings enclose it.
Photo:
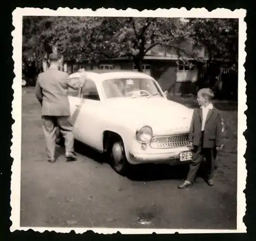
M 186 180 L 193 182 L 195 181 L 197 171 L 200 167 L 202 159 L 205 157 L 206 159 L 206 167 L 207 167 L 207 177 L 208 179 L 213 178 L 214 170 L 215 170 L 215 159 L 216 159 L 216 149 L 215 148 L 202 148 L 202 140 L 204 137 L 204 132 L 201 132 L 200 143 L 198 146 L 194 146 L 193 150 L 193 158 L 189 165 L 189 172 Z

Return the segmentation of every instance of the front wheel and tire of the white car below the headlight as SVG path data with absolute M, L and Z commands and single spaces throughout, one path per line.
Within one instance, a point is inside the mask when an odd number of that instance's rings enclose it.
M 126 176 L 131 164 L 126 159 L 123 141 L 120 138 L 113 139 L 109 145 L 108 153 L 114 171 L 121 176 Z

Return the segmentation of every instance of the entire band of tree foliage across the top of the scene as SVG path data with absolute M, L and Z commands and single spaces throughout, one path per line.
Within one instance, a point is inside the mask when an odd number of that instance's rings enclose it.
M 142 71 L 144 56 L 157 45 L 173 48 L 180 56 L 197 57 L 181 47 L 187 41 L 205 46 L 210 61 L 229 61 L 237 70 L 238 20 L 152 17 L 26 16 L 23 19 L 23 57 L 42 65 L 56 46 L 65 59 L 128 56 Z M 209 62 L 209 61 L 208 61 Z

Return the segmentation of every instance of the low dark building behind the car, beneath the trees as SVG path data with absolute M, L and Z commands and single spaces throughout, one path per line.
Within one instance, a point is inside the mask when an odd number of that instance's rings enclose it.
M 196 53 L 197 57 L 207 59 L 205 48 L 193 48 L 190 43 L 180 44 L 187 52 Z M 186 61 L 184 61 L 184 59 Z M 101 59 L 97 63 L 83 60 L 81 63 L 63 60 L 62 70 L 71 74 L 78 69 L 87 71 L 98 70 L 136 70 L 133 60 L 129 57 L 118 57 L 115 59 Z M 142 63 L 143 72 L 155 78 L 162 89 L 174 93 L 195 92 L 195 83 L 199 72 L 196 61 L 192 57 L 180 56 L 176 50 L 155 46 L 144 56 Z

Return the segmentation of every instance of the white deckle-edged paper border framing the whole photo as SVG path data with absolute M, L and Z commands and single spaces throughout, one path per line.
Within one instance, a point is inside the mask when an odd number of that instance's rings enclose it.
M 22 24 L 23 16 L 133 16 L 133 17 L 209 17 L 209 18 L 236 18 L 239 19 L 239 95 L 238 95 L 238 127 L 237 127 L 237 229 L 236 230 L 206 230 L 206 229 L 118 229 L 117 228 L 72 228 L 72 227 L 20 227 L 20 181 L 21 181 L 21 93 L 22 93 Z M 15 78 L 12 84 L 14 90 L 14 100 L 12 101 L 12 118 L 15 120 L 12 125 L 12 146 L 11 157 L 14 159 L 12 164 L 11 175 L 11 231 L 29 230 L 39 231 L 56 231 L 57 233 L 69 233 L 74 230 L 76 233 L 85 233 L 92 230 L 100 234 L 113 234 L 120 231 L 122 234 L 172 234 L 176 231 L 179 233 L 246 233 L 246 226 L 243 217 L 246 211 L 246 200 L 244 190 L 246 187 L 246 164 L 245 150 L 246 140 L 243 135 L 246 130 L 246 82 L 245 82 L 245 41 L 246 41 L 246 23 L 244 18 L 246 10 L 228 10 L 225 8 L 217 8 L 208 11 L 206 8 L 170 8 L 157 10 L 143 10 L 127 8 L 127 10 L 116 10 L 114 8 L 99 8 L 96 11 L 91 9 L 77 8 L 58 8 L 58 10 L 50 10 L 49 8 L 16 8 L 12 12 L 12 47 L 14 60 Z

